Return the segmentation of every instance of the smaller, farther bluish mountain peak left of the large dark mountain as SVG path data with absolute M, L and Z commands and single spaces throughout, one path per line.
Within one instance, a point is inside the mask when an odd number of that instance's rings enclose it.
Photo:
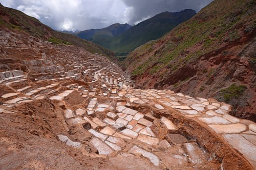
M 102 29 L 90 29 L 76 33 L 80 38 L 90 40 L 100 44 L 102 41 L 117 36 L 127 31 L 131 26 L 129 24 L 112 24 Z

